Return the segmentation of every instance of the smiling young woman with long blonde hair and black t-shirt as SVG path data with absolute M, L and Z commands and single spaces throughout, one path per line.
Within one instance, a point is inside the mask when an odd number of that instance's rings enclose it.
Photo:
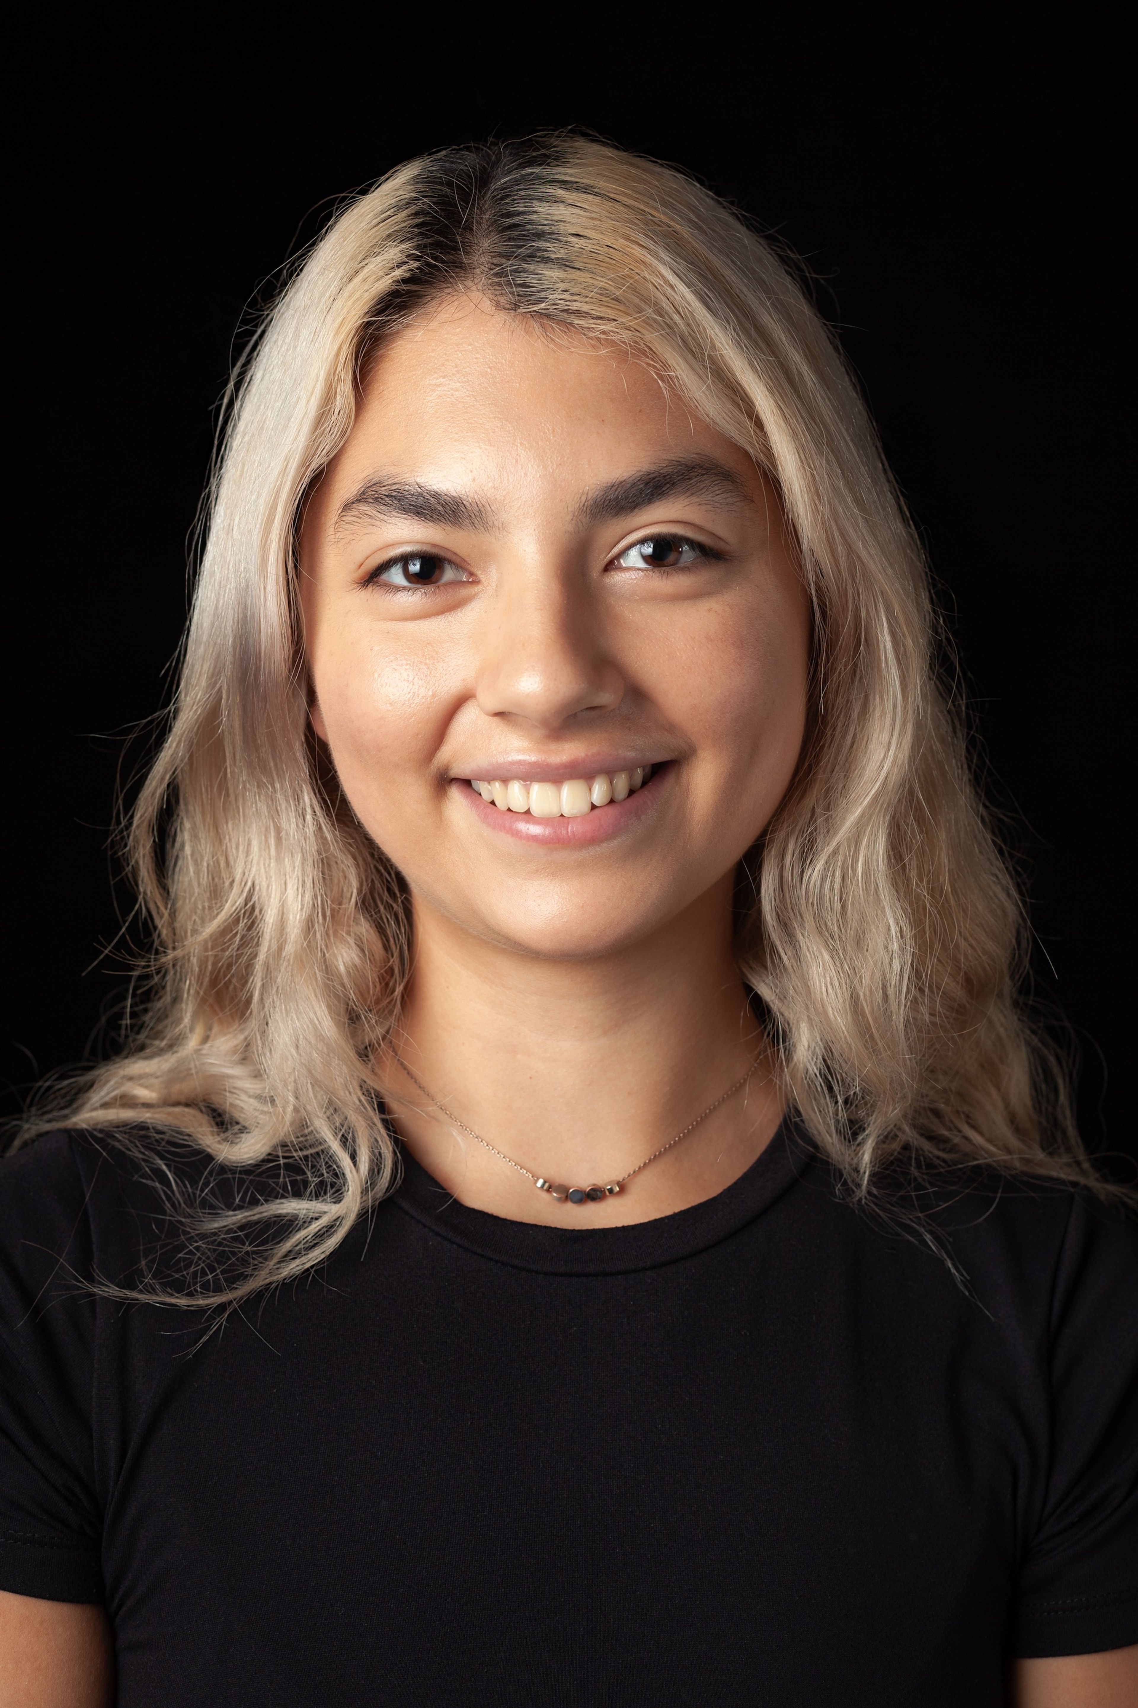
M 453 150 L 234 396 L 149 1020 L 0 1175 L 5 1701 L 1133 1703 L 1138 1242 L 793 277 Z

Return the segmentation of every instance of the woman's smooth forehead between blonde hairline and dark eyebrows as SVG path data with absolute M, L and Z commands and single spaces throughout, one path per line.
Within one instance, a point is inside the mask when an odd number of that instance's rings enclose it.
M 574 500 L 663 458 L 752 459 L 627 350 L 449 297 L 374 357 L 352 432 L 325 482 L 340 502 L 374 470 L 453 490 Z

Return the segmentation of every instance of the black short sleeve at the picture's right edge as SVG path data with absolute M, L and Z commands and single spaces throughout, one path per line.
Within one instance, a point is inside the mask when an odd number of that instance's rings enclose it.
M 1046 1496 L 1012 1653 L 1138 1643 L 1138 1230 L 1083 1197 L 1054 1276 Z

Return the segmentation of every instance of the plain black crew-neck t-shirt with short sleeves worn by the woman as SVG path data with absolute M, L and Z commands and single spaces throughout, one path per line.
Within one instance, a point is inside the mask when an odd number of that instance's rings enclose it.
M 407 1158 L 198 1344 L 75 1283 L 152 1247 L 135 1175 L 0 1168 L 0 1587 L 106 1600 L 121 1708 L 984 1708 L 1138 1640 L 1138 1237 L 1085 1196 L 962 1172 L 959 1279 L 789 1124 L 629 1228 Z

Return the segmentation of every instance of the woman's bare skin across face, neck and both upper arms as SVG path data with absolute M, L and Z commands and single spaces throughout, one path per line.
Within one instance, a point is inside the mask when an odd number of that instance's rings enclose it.
M 583 512 L 683 458 L 736 485 Z M 343 512 L 376 480 L 482 514 Z M 617 564 L 653 533 L 719 557 Z M 455 579 L 367 586 L 414 550 Z M 412 892 L 400 1049 L 460 1119 L 526 1167 L 607 1180 L 759 1064 L 747 1097 L 588 1211 L 463 1139 L 390 1064 L 410 1149 L 463 1202 L 528 1221 L 639 1221 L 721 1190 L 783 1108 L 731 956 L 733 871 L 791 781 L 807 709 L 810 617 L 774 492 L 627 357 L 449 301 L 367 377 L 306 512 L 302 605 L 314 729 Z M 620 760 L 670 763 L 590 844 L 509 835 L 455 781 Z M 0 1595 L 0 1708 L 104 1708 L 111 1676 L 99 1609 Z M 1008 1701 L 1135 1708 L 1138 1650 L 1018 1662 Z

